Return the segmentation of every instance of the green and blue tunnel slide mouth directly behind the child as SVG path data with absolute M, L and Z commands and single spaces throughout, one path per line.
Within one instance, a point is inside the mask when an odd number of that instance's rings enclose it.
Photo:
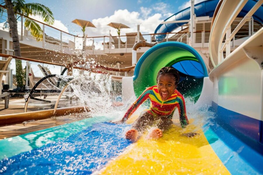
M 179 70 L 181 77 L 177 88 L 179 92 L 197 101 L 202 91 L 203 78 L 208 76 L 208 69 L 195 49 L 175 41 L 155 45 L 141 56 L 133 76 L 136 97 L 145 88 L 156 85 L 158 71 L 167 66 Z

